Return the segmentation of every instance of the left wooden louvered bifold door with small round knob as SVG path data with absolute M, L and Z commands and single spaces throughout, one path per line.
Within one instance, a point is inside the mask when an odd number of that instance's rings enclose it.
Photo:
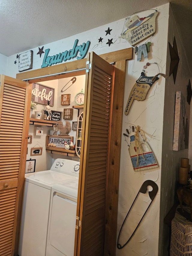
M 26 82 L 1 75 L 0 87 L 0 255 L 13 255 L 19 197 L 25 175 L 29 130 Z M 28 122 L 28 124 L 26 124 Z

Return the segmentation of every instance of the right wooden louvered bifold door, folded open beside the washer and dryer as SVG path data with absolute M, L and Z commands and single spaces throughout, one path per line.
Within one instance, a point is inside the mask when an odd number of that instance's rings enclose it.
M 103 254 L 106 183 L 115 68 L 90 54 L 86 75 L 76 230 L 77 256 Z

